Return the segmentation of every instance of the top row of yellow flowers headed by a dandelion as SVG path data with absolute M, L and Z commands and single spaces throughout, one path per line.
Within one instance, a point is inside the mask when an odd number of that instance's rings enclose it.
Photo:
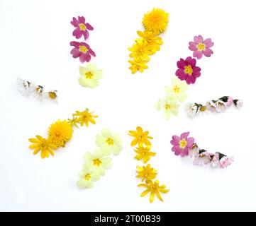
M 169 13 L 160 8 L 153 8 L 152 11 L 145 13 L 143 17 L 144 31 L 138 31 L 138 38 L 135 39 L 133 47 L 128 48 L 130 53 L 129 60 L 131 73 L 143 72 L 148 69 L 146 65 L 150 61 L 152 54 L 160 50 L 163 44 L 160 33 L 165 32 L 169 21 Z

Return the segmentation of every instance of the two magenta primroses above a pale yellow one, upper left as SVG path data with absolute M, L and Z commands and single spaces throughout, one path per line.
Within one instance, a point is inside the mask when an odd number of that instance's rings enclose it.
M 84 40 L 87 40 L 89 38 L 89 30 L 94 30 L 94 28 L 89 23 L 85 23 L 84 16 L 78 16 L 78 19 L 73 17 L 73 20 L 70 23 L 75 28 L 73 35 L 77 39 L 84 36 Z M 91 60 L 91 56 L 96 57 L 95 52 L 86 42 L 72 41 L 70 42 L 70 45 L 74 47 L 70 54 L 72 54 L 74 58 L 79 57 L 81 63 L 84 63 L 85 61 L 89 62 Z

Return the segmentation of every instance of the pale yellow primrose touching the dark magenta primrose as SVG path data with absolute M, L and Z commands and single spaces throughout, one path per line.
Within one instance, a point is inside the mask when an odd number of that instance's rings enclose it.
M 177 97 L 179 102 L 183 102 L 187 99 L 187 89 L 189 85 L 185 81 L 179 80 L 179 78 L 172 78 L 172 85 L 165 86 L 165 93 L 167 95 L 173 95 Z

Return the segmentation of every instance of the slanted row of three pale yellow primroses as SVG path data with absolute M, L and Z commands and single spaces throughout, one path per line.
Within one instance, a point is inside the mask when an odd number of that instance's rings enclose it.
M 89 189 L 94 186 L 101 176 L 105 175 L 106 169 L 111 168 L 112 158 L 109 155 L 118 155 L 123 149 L 122 138 L 119 133 L 111 133 L 109 129 L 103 129 L 96 136 L 96 145 L 99 149 L 94 153 L 87 152 L 84 155 L 84 166 L 79 173 L 77 186 L 80 189 Z

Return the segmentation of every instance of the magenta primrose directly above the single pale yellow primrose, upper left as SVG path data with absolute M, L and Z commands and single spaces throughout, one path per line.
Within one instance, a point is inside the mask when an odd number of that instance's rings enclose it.
M 84 63 L 84 61 L 89 62 L 91 60 L 91 56 L 96 57 L 95 52 L 93 52 L 89 44 L 85 42 L 73 41 L 70 42 L 70 45 L 74 47 L 70 54 L 72 54 L 74 58 L 79 57 L 81 63 Z

